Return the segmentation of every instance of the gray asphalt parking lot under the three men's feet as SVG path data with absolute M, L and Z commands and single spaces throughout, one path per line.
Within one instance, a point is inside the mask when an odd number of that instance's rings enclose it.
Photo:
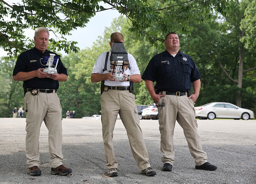
M 63 119 L 63 163 L 72 175 L 51 175 L 48 131 L 40 133 L 41 176 L 30 176 L 25 156 L 25 118 L 0 118 L 0 183 L 122 183 L 122 184 L 255 184 L 256 120 L 197 120 L 203 150 L 215 171 L 196 170 L 180 125 L 174 131 L 175 163 L 172 172 L 163 172 L 158 120 L 140 120 L 149 162 L 157 175 L 148 177 L 132 157 L 121 120 L 114 131 L 117 177 L 108 177 L 105 167 L 100 120 Z

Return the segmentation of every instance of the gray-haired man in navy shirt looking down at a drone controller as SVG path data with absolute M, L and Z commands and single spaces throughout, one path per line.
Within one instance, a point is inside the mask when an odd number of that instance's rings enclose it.
M 23 81 L 26 113 L 26 157 L 29 174 L 41 175 L 39 168 L 39 133 L 44 121 L 49 131 L 51 174 L 67 175 L 72 169 L 62 164 L 62 108 L 57 95 L 59 81 L 67 81 L 67 69 L 59 59 L 56 74 L 44 73 L 43 54 L 56 54 L 47 50 L 49 31 L 39 27 L 35 31 L 35 47 L 21 53 L 13 70 L 13 80 Z M 57 54 L 56 54 L 57 55 Z M 55 64 L 56 65 L 56 64 Z

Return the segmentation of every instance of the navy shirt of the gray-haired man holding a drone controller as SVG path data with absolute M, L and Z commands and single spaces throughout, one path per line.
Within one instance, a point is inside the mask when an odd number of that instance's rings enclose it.
M 46 50 L 44 53 L 53 53 Z M 54 53 L 56 54 L 56 53 Z M 43 53 L 36 47 L 21 53 L 17 59 L 15 67 L 13 69 L 12 76 L 19 72 L 30 72 L 37 70 L 38 68 L 45 68 L 47 66 L 42 65 L 40 59 L 43 58 Z M 54 66 L 55 67 L 55 66 Z M 57 64 L 58 74 L 65 74 L 68 76 L 67 68 L 63 66 L 62 61 L 59 59 Z M 27 81 L 23 81 L 23 88 L 39 88 L 39 89 L 55 89 L 59 88 L 59 81 L 54 81 L 50 78 L 38 78 L 34 77 Z

